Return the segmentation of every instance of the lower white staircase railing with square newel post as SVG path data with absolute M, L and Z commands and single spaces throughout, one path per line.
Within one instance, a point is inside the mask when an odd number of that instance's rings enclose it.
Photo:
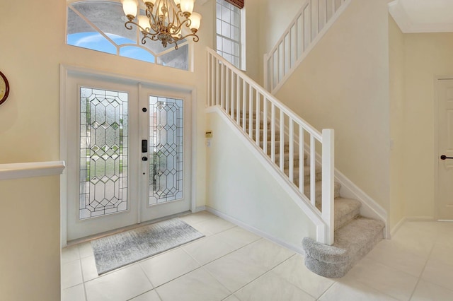
M 323 129 L 321 134 L 258 83 L 208 48 L 207 107 L 212 106 L 224 110 L 251 142 L 268 156 L 270 163 L 287 176 L 309 206 L 307 208 L 325 225 L 317 233 L 316 240 L 333 244 L 333 129 Z M 285 147 L 289 150 L 287 167 Z M 316 153 L 320 153 L 322 158 L 321 211 L 316 208 L 316 185 L 320 184 L 316 182 Z M 297 154 L 299 163 L 294 160 Z M 304 182 L 304 154 L 309 160 L 308 183 Z M 297 179 L 294 179 L 294 166 L 299 170 Z M 309 218 L 310 214 L 307 214 Z

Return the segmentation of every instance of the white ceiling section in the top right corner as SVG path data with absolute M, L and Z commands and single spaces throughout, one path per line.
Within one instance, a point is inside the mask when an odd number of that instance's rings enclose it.
M 453 0 L 396 0 L 389 12 L 403 33 L 453 32 Z

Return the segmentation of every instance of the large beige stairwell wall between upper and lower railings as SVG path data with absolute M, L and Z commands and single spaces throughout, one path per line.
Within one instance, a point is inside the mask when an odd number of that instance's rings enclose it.
M 276 96 L 317 129 L 335 129 L 336 167 L 388 212 L 387 1 L 352 0 Z

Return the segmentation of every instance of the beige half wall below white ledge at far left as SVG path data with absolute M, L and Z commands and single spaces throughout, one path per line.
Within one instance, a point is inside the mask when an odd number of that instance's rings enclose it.
M 60 300 L 59 177 L 0 180 L 0 205 L 0 300 Z

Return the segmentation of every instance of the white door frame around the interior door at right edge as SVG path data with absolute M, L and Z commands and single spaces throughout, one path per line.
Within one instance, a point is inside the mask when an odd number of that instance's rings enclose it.
M 435 76 L 434 78 L 434 218 L 439 219 L 439 160 L 440 160 L 440 149 L 439 149 L 439 83 L 442 80 L 453 80 L 453 76 Z

